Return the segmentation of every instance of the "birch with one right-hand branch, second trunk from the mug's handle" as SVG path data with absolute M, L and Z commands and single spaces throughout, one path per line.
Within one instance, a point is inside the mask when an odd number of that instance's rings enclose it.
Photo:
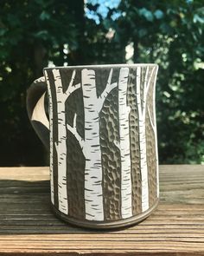
M 58 115 L 58 142 L 55 142 L 55 148 L 58 155 L 58 195 L 59 195 L 59 210 L 62 213 L 68 213 L 67 200 L 67 128 L 66 128 L 66 111 L 65 106 L 67 98 L 76 89 L 80 88 L 80 83 L 73 86 L 75 70 L 66 92 L 63 92 L 61 83 L 61 74 L 59 69 L 53 70 L 54 83 L 57 100 L 57 115 Z

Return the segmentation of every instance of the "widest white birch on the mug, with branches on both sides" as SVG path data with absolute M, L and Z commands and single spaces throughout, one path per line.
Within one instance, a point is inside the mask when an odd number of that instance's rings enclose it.
M 101 148 L 99 141 L 99 113 L 105 98 L 117 86 L 112 83 L 112 69 L 108 76 L 106 87 L 99 97 L 96 89 L 95 71 L 82 69 L 81 88 L 83 92 L 85 138 L 83 139 L 76 128 L 75 115 L 73 127 L 67 124 L 68 130 L 75 136 L 80 144 L 86 159 L 85 165 L 85 209 L 86 220 L 104 220 Z

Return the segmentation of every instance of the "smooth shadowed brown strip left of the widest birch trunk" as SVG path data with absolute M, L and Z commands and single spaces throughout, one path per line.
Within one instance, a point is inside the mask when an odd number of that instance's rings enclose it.
M 61 69 L 61 81 L 64 92 L 69 86 L 73 70 Z M 80 72 L 77 70 L 73 86 L 80 82 Z M 73 126 L 73 116 L 76 114 L 76 126 L 80 136 L 84 137 L 84 106 L 82 91 L 77 89 L 67 98 L 66 118 L 67 123 Z M 84 169 L 85 158 L 76 138 L 67 129 L 67 199 L 68 215 L 75 219 L 85 218 L 84 203 Z

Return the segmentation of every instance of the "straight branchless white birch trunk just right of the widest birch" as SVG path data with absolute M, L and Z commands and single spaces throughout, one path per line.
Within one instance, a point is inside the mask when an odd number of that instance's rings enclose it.
M 129 115 L 127 106 L 127 83 L 129 69 L 122 68 L 118 79 L 119 141 L 116 145 L 121 155 L 121 215 L 123 219 L 132 216 L 131 201 L 131 145 Z

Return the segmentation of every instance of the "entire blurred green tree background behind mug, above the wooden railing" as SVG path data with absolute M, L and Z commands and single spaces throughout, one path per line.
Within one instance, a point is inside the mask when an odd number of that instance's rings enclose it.
M 160 163 L 204 164 L 201 0 L 1 0 L 0 166 L 48 165 L 26 112 L 43 67 L 156 62 Z

